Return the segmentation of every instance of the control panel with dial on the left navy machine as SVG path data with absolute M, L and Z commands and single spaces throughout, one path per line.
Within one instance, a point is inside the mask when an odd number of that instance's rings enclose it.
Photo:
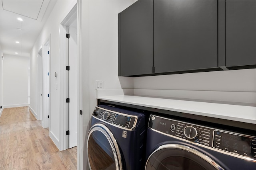
M 95 107 L 92 115 L 102 121 L 125 129 L 132 129 L 136 123 L 136 116 L 126 115 L 124 113 L 118 113 L 100 107 Z

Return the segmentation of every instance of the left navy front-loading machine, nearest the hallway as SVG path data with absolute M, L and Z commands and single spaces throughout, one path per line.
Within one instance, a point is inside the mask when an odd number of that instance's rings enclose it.
M 146 151 L 145 115 L 96 106 L 87 139 L 91 170 L 142 170 Z

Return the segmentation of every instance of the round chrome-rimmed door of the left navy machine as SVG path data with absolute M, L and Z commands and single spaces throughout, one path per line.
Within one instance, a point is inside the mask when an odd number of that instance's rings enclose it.
M 95 124 L 87 139 L 87 156 L 91 170 L 122 170 L 120 150 L 111 131 Z

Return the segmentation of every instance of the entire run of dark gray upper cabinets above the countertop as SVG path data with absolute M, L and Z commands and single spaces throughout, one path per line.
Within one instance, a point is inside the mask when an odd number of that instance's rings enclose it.
M 256 68 L 256 0 L 138 0 L 118 14 L 118 75 Z

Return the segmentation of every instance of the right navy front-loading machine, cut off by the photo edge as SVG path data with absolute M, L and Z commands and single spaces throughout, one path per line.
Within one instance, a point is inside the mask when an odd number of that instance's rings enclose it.
M 256 170 L 256 137 L 150 115 L 145 170 Z

